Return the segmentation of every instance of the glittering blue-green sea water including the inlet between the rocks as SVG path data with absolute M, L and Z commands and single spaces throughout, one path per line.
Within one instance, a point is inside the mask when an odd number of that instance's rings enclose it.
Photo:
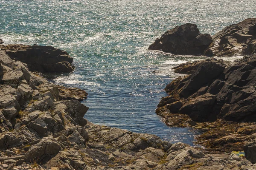
M 86 90 L 90 122 L 170 142 L 192 144 L 195 131 L 169 128 L 155 114 L 171 68 L 204 57 L 146 48 L 167 29 L 195 23 L 215 34 L 256 17 L 256 0 L 0 0 L 0 38 L 6 44 L 52 45 L 74 57 L 76 70 L 54 82 Z M 152 73 L 157 71 L 157 73 Z

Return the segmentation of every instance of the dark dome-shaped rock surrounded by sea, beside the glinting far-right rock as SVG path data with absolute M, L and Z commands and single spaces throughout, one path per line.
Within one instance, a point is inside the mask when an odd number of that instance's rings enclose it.
M 148 49 L 181 55 L 203 55 L 211 42 L 209 34 L 201 34 L 195 24 L 186 23 L 166 31 Z

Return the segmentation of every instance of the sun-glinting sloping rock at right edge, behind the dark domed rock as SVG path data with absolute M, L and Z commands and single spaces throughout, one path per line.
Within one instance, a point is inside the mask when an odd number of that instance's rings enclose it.
M 256 52 L 256 18 L 227 26 L 212 36 L 206 56 L 251 55 Z

